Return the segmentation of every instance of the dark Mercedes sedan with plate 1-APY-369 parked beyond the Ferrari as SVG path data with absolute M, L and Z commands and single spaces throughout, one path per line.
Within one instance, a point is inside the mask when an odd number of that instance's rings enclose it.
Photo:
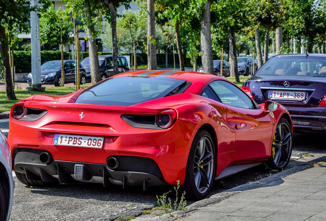
M 295 131 L 326 133 L 326 55 L 271 57 L 242 90 L 257 103 L 272 100 L 287 107 Z

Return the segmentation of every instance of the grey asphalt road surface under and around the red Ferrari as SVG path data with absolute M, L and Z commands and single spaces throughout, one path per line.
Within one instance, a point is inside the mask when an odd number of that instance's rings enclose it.
M 0 129 L 8 135 L 8 120 L 0 120 Z M 322 135 L 295 134 L 290 167 L 326 154 Z M 257 166 L 216 181 L 210 195 L 257 181 L 273 171 Z M 144 209 L 157 204 L 156 195 L 169 189 L 162 187 L 142 191 L 140 187 L 111 186 L 79 183 L 55 187 L 30 187 L 16 177 L 14 204 L 10 220 L 114 220 L 118 217 L 140 215 Z M 173 197 L 171 195 L 170 197 Z M 187 205 L 193 202 L 187 202 Z

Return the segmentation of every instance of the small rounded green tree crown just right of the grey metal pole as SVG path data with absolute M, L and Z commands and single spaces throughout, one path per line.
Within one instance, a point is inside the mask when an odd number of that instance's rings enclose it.
M 70 37 L 71 29 L 73 28 L 68 11 L 63 11 L 61 8 L 54 9 L 51 5 L 45 12 L 40 14 L 40 40 L 41 43 L 49 43 L 51 46 L 57 46 L 60 42 L 60 30 L 62 30 L 63 45 L 73 42 Z

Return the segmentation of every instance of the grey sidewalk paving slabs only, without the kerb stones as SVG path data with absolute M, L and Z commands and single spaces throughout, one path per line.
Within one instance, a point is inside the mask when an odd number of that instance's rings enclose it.
M 326 220 L 326 166 L 231 195 L 177 220 Z

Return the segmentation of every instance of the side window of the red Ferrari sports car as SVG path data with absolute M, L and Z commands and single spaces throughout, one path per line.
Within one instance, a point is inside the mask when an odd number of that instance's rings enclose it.
M 227 81 L 216 80 L 209 85 L 223 104 L 247 109 L 257 108 L 254 102 L 241 89 Z

